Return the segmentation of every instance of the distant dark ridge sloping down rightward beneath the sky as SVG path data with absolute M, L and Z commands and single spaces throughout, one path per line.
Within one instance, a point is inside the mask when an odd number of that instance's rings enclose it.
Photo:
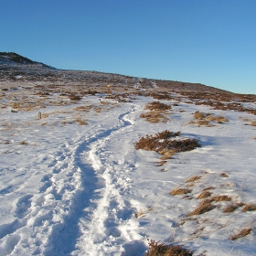
M 17 77 L 20 78 L 19 82 L 36 82 L 41 86 L 69 84 L 73 86 L 82 85 L 88 88 L 97 86 L 99 90 L 100 88 L 104 89 L 107 84 L 111 84 L 114 87 L 123 88 L 123 90 L 151 91 L 154 89 L 156 91 L 176 91 L 182 94 L 197 92 L 198 97 L 204 99 L 219 97 L 218 95 L 223 93 L 232 93 L 201 83 L 138 78 L 92 70 L 56 69 L 42 62 L 23 57 L 16 52 L 0 52 L 0 81 L 13 82 Z M 200 93 L 204 93 L 204 95 Z M 210 93 L 210 96 L 208 93 Z

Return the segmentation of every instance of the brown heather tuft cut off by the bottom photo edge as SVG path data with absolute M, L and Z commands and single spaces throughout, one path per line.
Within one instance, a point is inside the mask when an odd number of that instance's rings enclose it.
M 145 256 L 192 256 L 193 252 L 187 250 L 182 245 L 167 245 L 165 243 L 160 243 L 160 241 L 155 242 L 155 240 L 150 240 L 149 249 L 145 252 Z

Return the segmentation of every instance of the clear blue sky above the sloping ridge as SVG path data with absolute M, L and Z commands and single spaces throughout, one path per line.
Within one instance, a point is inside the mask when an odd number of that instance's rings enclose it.
M 256 94 L 256 1 L 0 0 L 0 51 Z

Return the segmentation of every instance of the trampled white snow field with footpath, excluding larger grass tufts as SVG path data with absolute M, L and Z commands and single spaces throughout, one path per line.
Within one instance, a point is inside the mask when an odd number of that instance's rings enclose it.
M 172 105 L 168 121 L 147 123 L 140 114 L 151 101 L 85 96 L 40 109 L 42 119 L 38 110 L 0 110 L 0 256 L 144 255 L 148 240 L 183 244 L 195 255 L 256 255 L 256 211 L 240 204 L 223 212 L 231 202 L 256 203 L 256 127 L 245 125 L 255 116 L 162 101 Z M 197 111 L 229 122 L 189 123 Z M 202 146 L 161 166 L 157 153 L 135 150 L 140 136 L 164 130 Z M 176 187 L 191 192 L 170 195 Z M 211 197 L 231 201 L 188 217 L 208 187 Z M 229 239 L 245 228 L 250 234 Z

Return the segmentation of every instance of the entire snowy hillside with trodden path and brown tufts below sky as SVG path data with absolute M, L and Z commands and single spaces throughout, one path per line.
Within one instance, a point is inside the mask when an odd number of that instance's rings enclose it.
M 255 95 L 0 56 L 0 256 L 255 254 Z

